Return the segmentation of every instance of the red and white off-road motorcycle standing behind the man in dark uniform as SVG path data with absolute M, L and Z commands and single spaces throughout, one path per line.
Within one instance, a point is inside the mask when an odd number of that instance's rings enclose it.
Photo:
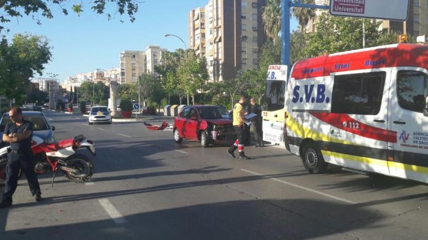
M 56 173 L 61 171 L 72 182 L 86 182 L 93 175 L 93 163 L 86 155 L 76 153 L 79 148 L 87 148 L 95 156 L 93 142 L 85 136 L 78 135 L 72 139 L 48 144 L 41 138 L 33 136 L 31 150 L 36 161 L 34 171 L 37 174 L 53 172 L 51 187 L 54 185 Z M 0 149 L 0 185 L 6 180 L 7 155 L 10 147 Z M 20 178 L 22 169 L 19 171 Z

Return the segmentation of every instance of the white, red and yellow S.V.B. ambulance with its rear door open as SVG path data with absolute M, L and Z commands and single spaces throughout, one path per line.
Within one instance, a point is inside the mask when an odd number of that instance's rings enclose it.
M 270 66 L 264 140 L 314 174 L 327 164 L 428 183 L 428 45 L 395 44 Z M 284 95 L 283 95 L 284 94 Z

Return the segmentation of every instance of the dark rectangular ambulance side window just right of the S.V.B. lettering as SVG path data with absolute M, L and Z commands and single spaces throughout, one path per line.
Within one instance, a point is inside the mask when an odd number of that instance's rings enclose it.
M 382 104 L 386 72 L 335 76 L 332 113 L 376 115 Z

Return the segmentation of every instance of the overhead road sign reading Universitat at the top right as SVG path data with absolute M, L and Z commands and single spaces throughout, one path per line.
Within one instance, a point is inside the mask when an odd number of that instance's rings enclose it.
M 410 0 L 330 0 L 330 14 L 405 21 Z

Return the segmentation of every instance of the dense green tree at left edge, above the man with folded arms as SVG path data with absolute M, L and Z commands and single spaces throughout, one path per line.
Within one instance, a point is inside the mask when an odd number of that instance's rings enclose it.
M 0 42 L 0 96 L 20 104 L 26 98 L 30 78 L 42 74 L 44 64 L 52 57 L 51 47 L 44 36 L 16 34 L 9 44 Z

